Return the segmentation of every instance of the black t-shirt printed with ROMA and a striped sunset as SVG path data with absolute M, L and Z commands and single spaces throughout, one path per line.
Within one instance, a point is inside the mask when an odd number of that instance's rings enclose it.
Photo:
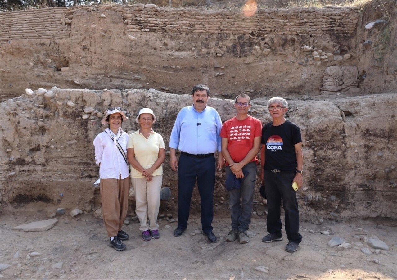
M 273 122 L 262 128 L 262 144 L 265 147 L 265 170 L 278 169 L 295 172 L 297 156 L 294 145 L 302 142 L 301 129 L 290 121 L 280 126 Z

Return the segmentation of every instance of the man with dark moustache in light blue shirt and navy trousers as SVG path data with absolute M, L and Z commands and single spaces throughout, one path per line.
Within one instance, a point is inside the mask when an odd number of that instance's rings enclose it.
M 207 106 L 210 90 L 205 85 L 195 85 L 192 90 L 193 105 L 179 111 L 170 137 L 170 164 L 178 170 L 178 227 L 173 235 L 181 236 L 187 228 L 193 188 L 197 179 L 201 199 L 201 228 L 211 243 L 216 242 L 212 232 L 214 218 L 215 156 L 217 167 L 224 166 L 220 131 L 222 121 L 218 112 Z M 176 149 L 181 151 L 179 163 Z M 179 168 L 178 168 L 179 166 Z

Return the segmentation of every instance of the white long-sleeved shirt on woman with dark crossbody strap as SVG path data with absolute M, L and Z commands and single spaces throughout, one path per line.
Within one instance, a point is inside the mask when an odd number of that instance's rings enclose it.
M 109 135 L 118 139 L 121 148 L 127 154 L 128 134 L 125 131 L 119 131 L 114 135 L 109 128 L 105 129 Z M 129 176 L 128 165 L 123 155 L 120 153 L 114 141 L 105 132 L 96 135 L 94 139 L 95 163 L 99 165 L 99 178 L 101 179 L 125 179 Z

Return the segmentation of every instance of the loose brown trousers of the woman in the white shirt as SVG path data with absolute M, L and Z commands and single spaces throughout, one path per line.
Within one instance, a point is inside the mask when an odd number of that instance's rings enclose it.
M 101 179 L 100 200 L 102 214 L 108 236 L 116 236 L 123 226 L 128 210 L 130 178 Z

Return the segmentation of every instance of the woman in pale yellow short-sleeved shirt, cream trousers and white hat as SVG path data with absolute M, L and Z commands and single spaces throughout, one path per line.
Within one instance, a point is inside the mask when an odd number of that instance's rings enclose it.
M 131 164 L 131 182 L 135 192 L 135 212 L 139 218 L 142 239 L 160 238 L 156 223 L 160 208 L 160 189 L 166 150 L 163 137 L 154 132 L 156 116 L 152 109 L 143 108 L 136 118 L 140 129 L 129 135 L 127 158 Z M 149 219 L 149 224 L 147 220 Z

